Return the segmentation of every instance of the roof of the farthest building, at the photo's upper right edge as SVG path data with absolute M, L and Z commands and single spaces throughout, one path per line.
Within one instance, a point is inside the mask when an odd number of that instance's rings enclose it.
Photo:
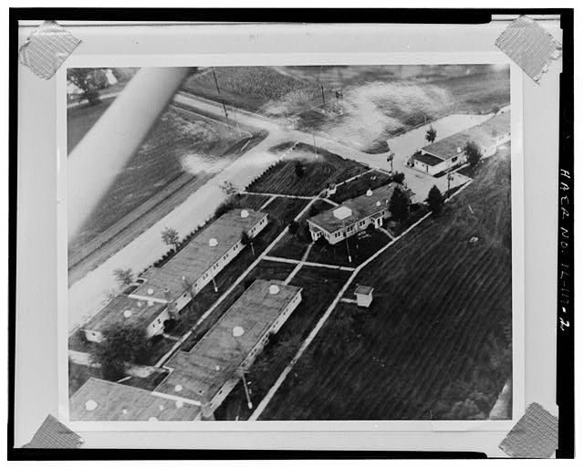
M 459 154 L 461 151 L 464 151 L 464 145 L 466 145 L 468 141 L 474 141 L 483 148 L 495 145 L 495 137 L 508 133 L 511 129 L 510 126 L 509 112 L 502 112 L 489 120 L 485 120 L 482 124 L 455 133 L 454 135 L 446 137 L 440 141 L 434 141 L 430 145 L 423 147 L 422 151 L 430 153 L 441 160 L 448 160 Z M 414 156 L 414 159 L 422 161 L 422 157 L 423 155 Z M 436 164 L 439 164 L 440 161 L 425 163 L 435 166 Z

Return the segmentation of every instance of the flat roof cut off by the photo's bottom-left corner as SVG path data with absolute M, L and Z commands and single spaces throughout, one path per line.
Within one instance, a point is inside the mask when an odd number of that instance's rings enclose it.
M 118 382 L 89 378 L 69 399 L 71 421 L 193 421 L 201 407 Z M 93 410 L 91 410 L 93 409 Z

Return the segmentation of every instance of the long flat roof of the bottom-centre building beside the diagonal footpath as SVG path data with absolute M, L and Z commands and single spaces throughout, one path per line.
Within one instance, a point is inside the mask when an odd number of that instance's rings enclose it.
M 272 286 L 277 293 L 271 293 Z M 156 391 L 211 401 L 302 288 L 275 280 L 255 280 L 189 352 L 166 363 L 173 370 Z M 243 334 L 234 337 L 234 328 Z

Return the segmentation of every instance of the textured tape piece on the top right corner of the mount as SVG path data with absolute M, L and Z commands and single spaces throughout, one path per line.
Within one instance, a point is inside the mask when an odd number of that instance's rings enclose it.
M 495 46 L 536 82 L 547 71 L 550 60 L 562 52 L 561 44 L 527 16 L 519 16 L 507 26 L 497 37 Z

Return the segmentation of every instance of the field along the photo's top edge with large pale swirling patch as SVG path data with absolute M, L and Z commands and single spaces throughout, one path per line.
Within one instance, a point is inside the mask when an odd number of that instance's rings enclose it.
M 215 68 L 221 96 L 211 70 L 190 78 L 183 89 L 382 153 L 389 150 L 388 139 L 429 121 L 485 114 L 510 102 L 508 69 L 438 67 Z

